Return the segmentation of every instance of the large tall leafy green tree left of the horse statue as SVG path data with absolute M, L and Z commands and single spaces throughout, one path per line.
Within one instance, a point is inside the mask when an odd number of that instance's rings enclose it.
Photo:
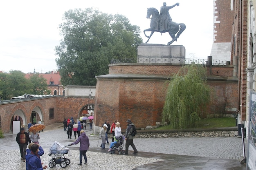
M 124 15 L 87 8 L 67 11 L 63 20 L 63 40 L 55 48 L 63 85 L 96 85 L 95 76 L 108 74 L 110 60 L 137 58 L 139 27 Z

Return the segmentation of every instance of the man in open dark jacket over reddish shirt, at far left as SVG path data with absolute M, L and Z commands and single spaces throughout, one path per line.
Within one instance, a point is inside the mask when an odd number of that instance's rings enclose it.
M 31 143 L 31 140 L 30 140 L 29 134 L 25 132 L 24 128 L 21 128 L 20 132 L 18 132 L 16 141 L 20 146 L 20 156 L 21 156 L 20 160 L 23 160 L 23 162 L 25 162 L 27 145 Z

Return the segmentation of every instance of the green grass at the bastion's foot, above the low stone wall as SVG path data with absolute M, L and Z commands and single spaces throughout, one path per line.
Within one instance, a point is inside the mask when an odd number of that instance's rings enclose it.
M 211 119 L 201 119 L 198 122 L 198 126 L 195 128 L 226 128 L 236 126 L 236 119 L 231 117 L 222 117 L 222 118 L 211 118 Z M 170 125 L 160 126 L 155 128 L 155 130 L 168 130 L 171 129 Z

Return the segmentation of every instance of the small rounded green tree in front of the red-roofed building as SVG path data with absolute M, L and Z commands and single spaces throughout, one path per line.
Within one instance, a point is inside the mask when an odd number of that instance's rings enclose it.
M 51 91 L 47 88 L 47 79 L 39 73 L 32 74 L 29 77 L 33 95 L 48 95 Z

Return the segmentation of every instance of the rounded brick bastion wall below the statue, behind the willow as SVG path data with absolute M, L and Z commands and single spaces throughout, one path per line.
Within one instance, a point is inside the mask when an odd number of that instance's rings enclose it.
M 95 125 L 101 126 L 105 119 L 110 122 L 117 119 L 121 124 L 132 119 L 138 128 L 155 126 L 161 121 L 168 86 L 166 80 L 180 67 L 172 64 L 110 64 L 110 75 L 97 76 Z M 208 73 L 212 69 L 212 75 L 207 78 L 214 92 L 207 115 L 234 114 L 238 107 L 238 79 L 233 77 L 233 66 L 207 69 Z M 155 77 L 148 78 L 152 74 Z

